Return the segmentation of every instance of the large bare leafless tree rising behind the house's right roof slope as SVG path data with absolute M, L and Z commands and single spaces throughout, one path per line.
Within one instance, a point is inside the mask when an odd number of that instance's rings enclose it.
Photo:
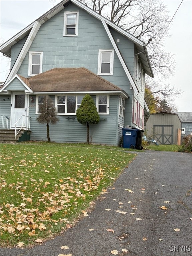
M 154 74 L 162 78 L 174 74 L 173 55 L 163 49 L 171 20 L 165 4 L 159 0 L 79 1 L 145 42 Z

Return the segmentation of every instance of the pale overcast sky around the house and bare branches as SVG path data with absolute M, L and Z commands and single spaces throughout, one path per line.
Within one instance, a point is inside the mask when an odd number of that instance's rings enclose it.
M 182 0 L 163 0 L 167 5 L 170 16 L 173 17 Z M 59 3 L 55 0 L 55 3 Z M 46 11 L 53 7 L 49 0 L 1 0 L 0 17 L 1 42 L 9 40 L 23 28 L 28 26 Z M 170 83 L 184 93 L 175 98 L 175 104 L 180 112 L 192 111 L 192 0 L 183 0 L 170 29 L 170 38 L 167 38 L 165 49 L 174 54 L 176 70 L 174 77 L 163 81 Z M 2 57 L 0 66 L 0 81 L 5 81 L 9 73 L 8 58 Z

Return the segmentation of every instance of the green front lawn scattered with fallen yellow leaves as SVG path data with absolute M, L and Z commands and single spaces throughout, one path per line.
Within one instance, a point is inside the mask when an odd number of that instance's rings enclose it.
M 1 246 L 31 246 L 87 216 L 134 157 L 85 145 L 1 144 Z

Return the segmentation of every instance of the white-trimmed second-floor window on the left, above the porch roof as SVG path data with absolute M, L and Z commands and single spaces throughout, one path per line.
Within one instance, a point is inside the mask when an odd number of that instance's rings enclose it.
M 43 52 L 29 52 L 28 76 L 35 76 L 42 73 Z

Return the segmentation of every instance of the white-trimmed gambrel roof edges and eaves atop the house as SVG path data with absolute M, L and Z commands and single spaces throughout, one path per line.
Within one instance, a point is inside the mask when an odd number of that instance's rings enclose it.
M 92 16 L 94 16 L 95 18 L 97 18 L 98 20 L 100 20 L 107 32 L 107 35 L 109 36 L 109 39 L 114 47 L 114 50 L 124 68 L 124 71 L 127 75 L 127 77 L 129 78 L 131 87 L 135 90 L 135 91 L 139 91 L 137 88 L 137 85 L 134 82 L 134 79 L 132 78 L 127 65 L 125 64 L 123 57 L 121 56 L 121 53 L 117 47 L 116 42 L 113 39 L 113 36 L 110 32 L 110 28 L 116 30 L 118 33 L 122 34 L 123 36 L 125 36 L 126 38 L 128 38 L 130 41 L 132 41 L 137 48 L 137 51 L 139 53 L 140 59 L 142 61 L 142 66 L 146 72 L 147 75 L 154 77 L 153 75 L 153 71 L 150 65 L 150 61 L 149 61 L 149 57 L 148 57 L 148 53 L 147 53 L 147 49 L 146 49 L 146 45 L 144 42 L 142 42 L 141 40 L 139 40 L 138 38 L 134 37 L 133 35 L 131 35 L 130 33 L 124 31 L 123 29 L 121 29 L 120 27 L 118 27 L 117 25 L 115 25 L 114 23 L 112 23 L 111 21 L 109 21 L 108 19 L 106 19 L 105 17 L 101 16 L 100 14 L 96 13 L 95 11 L 93 11 L 91 8 L 85 6 L 84 4 L 82 4 L 81 2 L 77 1 L 77 0 L 63 0 L 61 1 L 59 4 L 57 4 L 56 6 L 54 6 L 52 9 L 50 9 L 48 12 L 46 12 L 45 14 L 43 14 L 41 17 L 39 17 L 37 20 L 35 20 L 33 23 L 31 23 L 29 26 L 27 26 L 26 28 L 24 28 L 22 31 L 20 31 L 18 34 L 16 34 L 14 37 L 12 37 L 11 39 L 9 39 L 7 42 L 5 42 L 4 44 L 1 45 L 0 47 L 0 51 L 10 57 L 11 56 L 11 47 L 16 44 L 18 41 L 20 41 L 21 39 L 23 39 L 24 37 L 27 36 L 27 39 L 24 43 L 24 46 L 21 50 L 21 52 L 19 53 L 19 56 L 17 58 L 17 60 L 15 61 L 7 80 L 11 79 L 19 70 L 19 67 L 25 57 L 25 55 L 27 54 L 31 43 L 33 42 L 33 39 L 35 38 L 40 26 L 45 23 L 47 20 L 49 20 L 51 17 L 53 17 L 55 14 L 57 14 L 58 12 L 60 12 L 61 10 L 63 10 L 67 5 L 69 5 L 70 3 L 75 4 L 76 6 L 78 6 L 79 8 L 83 9 L 84 11 L 88 12 L 89 14 L 91 14 Z

